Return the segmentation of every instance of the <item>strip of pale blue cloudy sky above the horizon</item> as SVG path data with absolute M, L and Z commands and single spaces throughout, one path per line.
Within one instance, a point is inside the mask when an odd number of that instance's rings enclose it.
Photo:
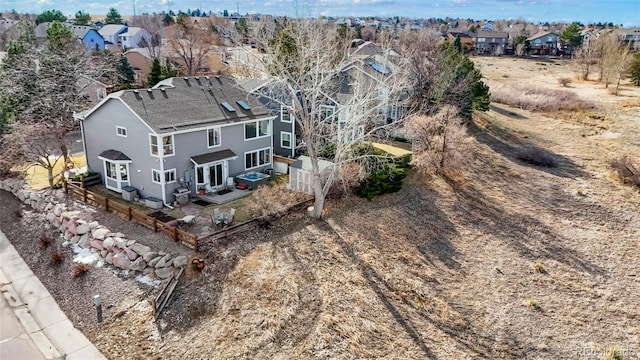
M 83 10 L 106 14 L 113 6 L 122 15 L 133 14 L 134 0 L 0 0 L 0 10 L 39 13 L 59 9 L 65 15 Z M 613 22 L 640 26 L 640 0 L 137 0 L 137 14 L 200 8 L 205 11 L 287 16 L 408 16 L 483 19 L 523 18 L 532 22 Z

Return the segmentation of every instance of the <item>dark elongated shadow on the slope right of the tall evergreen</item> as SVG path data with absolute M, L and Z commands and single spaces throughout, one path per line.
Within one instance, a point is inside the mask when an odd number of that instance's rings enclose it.
M 484 128 L 472 121 L 469 124 L 468 132 L 481 144 L 487 145 L 496 153 L 515 163 L 529 165 L 546 173 L 565 178 L 589 176 L 589 173 L 583 171 L 581 166 L 570 158 L 527 141 L 490 121 Z M 542 160 L 535 160 L 536 158 Z

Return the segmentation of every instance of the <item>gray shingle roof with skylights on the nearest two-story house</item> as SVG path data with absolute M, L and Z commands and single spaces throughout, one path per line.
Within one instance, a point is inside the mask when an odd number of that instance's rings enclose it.
M 175 77 L 154 89 L 125 90 L 114 94 L 157 133 L 221 125 L 269 116 L 255 96 L 224 76 Z M 236 101 L 244 101 L 244 110 Z M 226 110 L 227 102 L 235 111 Z

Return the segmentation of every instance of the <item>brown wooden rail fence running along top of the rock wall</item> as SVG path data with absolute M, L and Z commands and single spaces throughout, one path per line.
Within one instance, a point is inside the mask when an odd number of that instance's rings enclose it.
M 131 206 L 121 204 L 114 200 L 109 200 L 106 196 L 98 195 L 68 182 L 64 183 L 64 191 L 87 204 L 101 207 L 114 214 L 122 215 L 129 221 L 142 224 L 155 232 L 161 232 L 170 236 L 175 241 L 180 241 L 188 247 L 195 249 L 196 251 L 198 250 L 198 237 L 179 229 L 177 226 L 158 221 L 158 219 L 148 216 L 142 211 L 134 209 Z

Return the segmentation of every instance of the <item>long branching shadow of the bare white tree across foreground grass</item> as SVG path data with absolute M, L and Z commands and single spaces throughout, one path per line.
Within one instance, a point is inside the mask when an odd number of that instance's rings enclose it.
M 417 176 L 413 175 L 414 181 Z M 402 227 L 398 229 L 398 234 L 391 236 L 404 237 L 420 254 L 424 261 L 424 266 L 439 272 L 442 266 L 449 270 L 453 276 L 464 276 L 462 268 L 461 254 L 456 249 L 452 238 L 458 236 L 456 225 L 452 223 L 446 213 L 438 207 L 439 194 L 433 189 L 416 186 L 416 184 L 405 185 L 400 192 L 392 195 L 391 203 L 373 202 L 362 214 L 353 216 L 373 216 L 380 217 L 389 212 L 394 213 L 397 219 L 390 219 L 389 227 Z M 351 211 L 352 207 L 350 207 Z M 340 224 L 346 229 L 357 232 L 357 235 L 367 240 L 366 247 L 375 247 L 380 254 L 388 255 L 394 258 L 394 246 L 386 243 L 390 236 L 384 229 L 367 228 L 358 229 L 354 226 L 349 218 L 335 216 L 333 221 Z M 434 327 L 447 334 L 452 340 L 456 341 L 462 348 L 467 349 L 475 356 L 482 358 L 491 358 L 495 355 L 495 338 L 490 336 L 482 336 L 482 327 L 472 320 L 473 315 L 468 310 L 461 308 L 457 304 L 456 299 L 449 298 L 443 289 L 448 285 L 439 281 L 437 278 L 430 278 L 428 275 L 419 274 L 419 268 L 415 269 L 416 274 L 413 276 L 420 278 L 424 284 L 429 284 L 429 291 L 435 291 L 436 296 L 442 298 L 446 302 L 446 306 L 454 309 L 459 313 L 461 320 L 459 322 L 447 322 L 438 319 L 431 311 L 425 309 L 424 306 L 414 303 L 417 301 L 412 295 L 408 297 L 399 295 L 397 289 L 389 284 L 388 274 L 382 274 L 376 270 L 373 265 L 364 260 L 354 246 L 350 243 L 350 239 L 343 238 L 333 228 L 327 226 L 326 231 L 335 232 L 335 241 L 341 246 L 342 250 L 360 269 L 363 278 L 367 284 L 375 292 L 381 303 L 387 308 L 396 322 L 404 329 L 406 334 L 414 341 L 425 354 L 427 358 L 436 358 L 434 344 L 429 344 L 430 340 L 424 337 L 421 332 L 425 329 L 420 328 L 420 324 L 416 323 L 416 319 L 412 319 L 411 314 L 419 314 L 423 321 L 427 321 Z M 400 241 L 400 240 L 399 240 Z M 410 264 L 407 264 L 411 267 Z M 408 269 L 407 269 L 408 270 Z M 415 295 L 415 294 L 413 294 Z M 508 355 L 513 358 L 522 358 L 533 345 L 522 344 L 511 335 L 504 336 L 500 343 L 509 344 Z

